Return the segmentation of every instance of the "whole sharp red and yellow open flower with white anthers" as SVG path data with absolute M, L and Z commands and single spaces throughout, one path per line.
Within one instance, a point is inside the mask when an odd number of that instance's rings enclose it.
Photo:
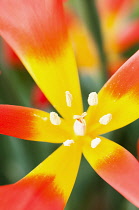
M 139 116 L 139 51 L 83 111 L 78 72 L 62 0 L 1 0 L 0 33 L 58 113 L 0 105 L 0 133 L 61 146 L 20 181 L 0 187 L 1 209 L 62 210 L 82 154 L 93 169 L 139 207 L 139 163 L 102 134 Z

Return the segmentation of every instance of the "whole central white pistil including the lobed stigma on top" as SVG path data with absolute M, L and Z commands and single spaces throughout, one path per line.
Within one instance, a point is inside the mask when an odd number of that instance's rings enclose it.
M 73 119 L 75 119 L 73 130 L 74 133 L 77 136 L 84 136 L 86 131 L 86 121 L 84 117 L 87 115 L 86 112 L 84 112 L 82 115 L 74 115 Z

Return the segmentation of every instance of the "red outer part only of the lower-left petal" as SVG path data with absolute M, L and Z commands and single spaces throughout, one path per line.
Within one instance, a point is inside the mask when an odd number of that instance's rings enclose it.
M 0 187 L 1 209 L 64 209 L 65 202 L 53 184 L 54 177 L 23 179 L 16 184 Z

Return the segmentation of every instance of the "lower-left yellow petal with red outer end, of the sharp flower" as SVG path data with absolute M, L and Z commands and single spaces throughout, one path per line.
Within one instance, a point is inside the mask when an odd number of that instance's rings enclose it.
M 61 146 L 22 180 L 0 187 L 0 209 L 64 209 L 80 158 L 76 144 Z

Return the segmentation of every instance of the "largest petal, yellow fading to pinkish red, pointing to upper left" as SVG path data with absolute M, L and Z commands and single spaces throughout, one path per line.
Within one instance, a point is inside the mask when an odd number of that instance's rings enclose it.
M 82 113 L 78 72 L 62 0 L 1 0 L 0 32 L 64 117 Z M 65 91 L 73 95 L 66 105 Z

